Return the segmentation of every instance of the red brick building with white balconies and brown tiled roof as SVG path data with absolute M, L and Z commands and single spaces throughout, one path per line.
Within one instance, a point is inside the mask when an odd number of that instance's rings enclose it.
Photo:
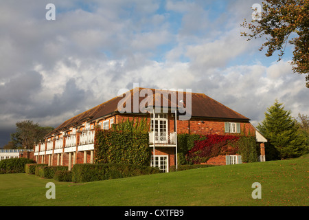
M 147 95 L 147 96 L 146 96 Z M 253 134 L 264 146 L 266 139 L 249 118 L 229 109 L 205 94 L 135 88 L 66 120 L 34 146 L 39 164 L 73 166 L 93 163 L 95 126 L 110 129 L 122 120 L 147 118 L 150 122 L 151 166 L 168 172 L 176 165 L 176 134 Z M 264 161 L 264 148 L 261 148 Z M 210 164 L 239 163 L 238 155 L 209 159 Z M 229 162 L 227 162 L 227 159 Z

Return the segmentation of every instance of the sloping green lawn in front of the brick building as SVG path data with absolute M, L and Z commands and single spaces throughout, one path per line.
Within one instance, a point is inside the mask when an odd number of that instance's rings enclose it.
M 84 184 L 0 175 L 0 206 L 308 206 L 309 155 Z M 47 182 L 56 199 L 46 199 Z M 262 199 L 253 199 L 259 182 Z

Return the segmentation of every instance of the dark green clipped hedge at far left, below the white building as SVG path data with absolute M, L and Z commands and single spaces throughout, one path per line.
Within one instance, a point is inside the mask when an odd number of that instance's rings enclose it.
M 10 158 L 0 161 L 0 173 L 25 173 L 25 164 L 33 164 L 29 158 Z

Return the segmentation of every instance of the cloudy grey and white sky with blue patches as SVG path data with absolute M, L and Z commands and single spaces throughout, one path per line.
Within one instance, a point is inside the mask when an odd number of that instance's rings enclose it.
M 47 3 L 56 20 L 47 21 Z M 240 23 L 260 1 L 0 0 L 0 146 L 15 124 L 64 120 L 139 87 L 192 89 L 251 118 L 275 99 L 309 115 L 292 47 L 266 58 Z

